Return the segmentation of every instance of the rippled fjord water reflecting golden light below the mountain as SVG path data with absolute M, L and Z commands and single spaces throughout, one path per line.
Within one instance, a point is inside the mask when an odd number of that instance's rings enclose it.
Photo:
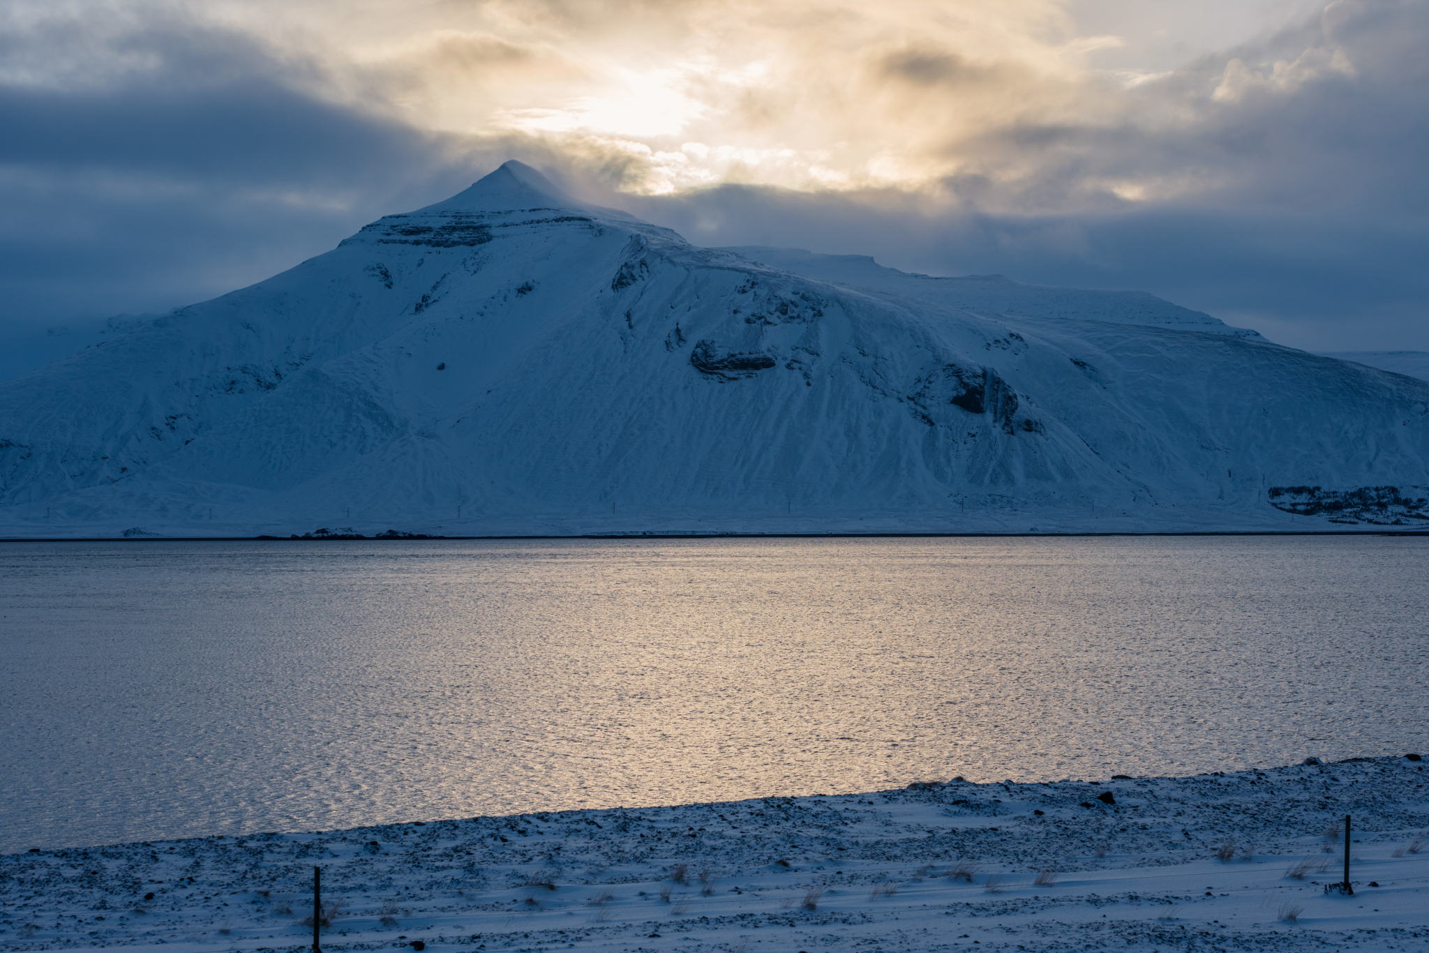
M 1425 537 L 0 546 L 0 852 L 1425 744 Z

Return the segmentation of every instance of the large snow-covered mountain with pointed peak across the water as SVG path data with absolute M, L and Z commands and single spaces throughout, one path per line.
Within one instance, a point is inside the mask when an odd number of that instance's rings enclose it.
M 1429 383 L 1150 296 L 842 274 L 507 163 L 0 384 L 0 532 L 1429 522 Z

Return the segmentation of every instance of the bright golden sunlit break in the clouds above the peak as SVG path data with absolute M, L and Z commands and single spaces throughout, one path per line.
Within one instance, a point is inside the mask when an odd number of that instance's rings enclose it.
M 630 191 L 919 189 L 977 166 L 972 144 L 989 131 L 1116 111 L 1116 83 L 1087 57 L 1119 40 L 1079 36 L 1052 0 L 309 3 L 217 16 L 317 53 L 330 96 L 449 136 L 520 133 L 620 167 Z

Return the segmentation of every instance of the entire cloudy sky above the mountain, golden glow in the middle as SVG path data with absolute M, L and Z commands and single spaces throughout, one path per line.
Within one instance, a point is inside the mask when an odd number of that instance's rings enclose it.
M 699 244 L 1429 350 L 1429 0 L 6 0 L 0 377 L 522 159 Z

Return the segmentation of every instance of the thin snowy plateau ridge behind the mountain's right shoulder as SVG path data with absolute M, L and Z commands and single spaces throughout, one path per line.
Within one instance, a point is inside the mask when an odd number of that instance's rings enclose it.
M 766 246 L 739 246 L 723 250 L 820 281 L 843 284 L 862 291 L 915 297 L 987 317 L 1050 317 L 1149 324 L 1182 331 L 1265 340 L 1259 331 L 1248 327 L 1230 327 L 1210 314 L 1172 304 L 1146 291 L 1043 287 L 1013 281 L 1000 274 L 967 274 L 957 279 L 909 274 L 897 269 L 883 267 L 866 254 L 819 254 L 803 249 L 770 249 Z

